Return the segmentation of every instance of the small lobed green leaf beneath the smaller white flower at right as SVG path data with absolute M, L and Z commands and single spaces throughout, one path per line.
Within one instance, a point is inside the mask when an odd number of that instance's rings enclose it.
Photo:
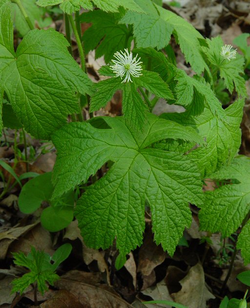
M 229 92 L 232 93 L 234 87 L 240 97 L 247 96 L 245 79 L 241 76 L 244 74 L 244 57 L 240 54 L 235 59 L 227 60 L 220 54 L 224 45 L 220 37 L 207 39 L 208 47 L 203 50 L 208 57 L 213 70 L 220 71 L 220 77 L 224 80 Z

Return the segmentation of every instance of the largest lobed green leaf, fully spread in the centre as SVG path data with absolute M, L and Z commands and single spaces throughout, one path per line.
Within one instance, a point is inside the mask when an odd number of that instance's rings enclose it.
M 165 138 L 202 139 L 193 129 L 152 114 L 146 117 L 144 132 L 129 127 L 124 117 L 97 120 L 105 121 L 110 129 L 70 123 L 53 135 L 58 151 L 54 196 L 86 182 L 111 160 L 114 164 L 106 175 L 87 187 L 77 202 L 84 242 L 93 248 L 107 248 L 116 238 L 121 254 L 128 253 L 142 242 L 147 200 L 155 241 L 173 254 L 191 222 L 187 201 L 202 202 L 200 175 L 187 155 L 148 146 Z

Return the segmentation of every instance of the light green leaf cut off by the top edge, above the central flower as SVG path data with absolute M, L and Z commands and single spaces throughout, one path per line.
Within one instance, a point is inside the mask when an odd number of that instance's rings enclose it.
M 85 9 L 92 9 L 91 0 L 38 0 L 40 6 L 60 4 L 60 8 L 64 13 L 71 14 L 79 11 L 81 6 Z M 93 0 L 95 6 L 105 12 L 118 12 L 120 6 L 131 11 L 143 13 L 143 10 L 133 0 Z

